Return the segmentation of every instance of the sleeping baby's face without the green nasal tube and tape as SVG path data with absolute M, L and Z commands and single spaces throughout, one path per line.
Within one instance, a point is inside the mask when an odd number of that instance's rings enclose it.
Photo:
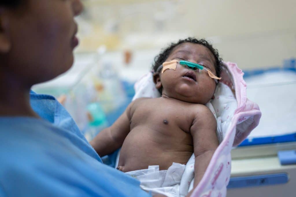
M 166 61 L 186 60 L 200 64 L 214 75 L 215 58 L 205 46 L 194 43 L 182 43 L 170 53 Z M 163 95 L 185 102 L 206 104 L 214 95 L 216 83 L 207 72 L 189 69 L 177 64 L 176 70 L 167 69 L 160 74 Z

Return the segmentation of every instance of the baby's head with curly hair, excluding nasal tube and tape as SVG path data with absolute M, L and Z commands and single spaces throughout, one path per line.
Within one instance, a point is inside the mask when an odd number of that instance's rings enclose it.
M 162 73 L 160 66 L 172 60 L 190 61 L 206 69 L 193 70 L 177 64 L 176 69 L 166 69 Z M 221 67 L 222 59 L 218 51 L 206 40 L 186 38 L 172 43 L 156 56 L 152 69 L 155 86 L 163 95 L 185 102 L 206 104 L 215 93 L 216 83 L 205 70 L 219 77 Z

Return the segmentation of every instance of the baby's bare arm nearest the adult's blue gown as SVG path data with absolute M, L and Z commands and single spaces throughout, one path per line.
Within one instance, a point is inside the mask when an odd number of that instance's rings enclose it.
M 128 105 L 125 112 L 112 124 L 112 126 L 101 131 L 91 142 L 95 151 L 103 157 L 120 148 L 124 139 L 130 132 L 131 106 Z

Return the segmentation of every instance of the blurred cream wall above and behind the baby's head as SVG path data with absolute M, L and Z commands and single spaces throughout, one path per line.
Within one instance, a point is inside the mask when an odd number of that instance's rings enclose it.
M 135 56 L 195 36 L 211 40 L 224 61 L 242 69 L 281 66 L 296 57 L 295 0 L 98 1 L 91 13 L 98 23 L 118 20 L 118 49 L 130 48 Z

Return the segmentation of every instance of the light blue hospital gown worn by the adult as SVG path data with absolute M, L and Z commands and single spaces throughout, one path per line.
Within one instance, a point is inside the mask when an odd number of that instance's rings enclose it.
M 0 196 L 151 196 L 102 163 L 54 97 L 30 95 L 42 119 L 0 118 Z

